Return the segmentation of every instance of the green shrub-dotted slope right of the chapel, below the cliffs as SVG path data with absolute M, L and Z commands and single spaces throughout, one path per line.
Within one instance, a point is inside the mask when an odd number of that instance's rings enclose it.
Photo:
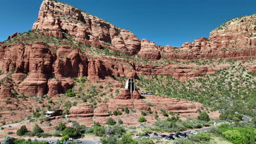
M 253 61 L 251 59 L 249 61 Z M 247 73 L 242 63 L 199 79 L 181 82 L 170 76 L 140 75 L 137 87 L 163 97 L 197 101 L 212 110 L 234 110 L 255 116 L 256 76 Z

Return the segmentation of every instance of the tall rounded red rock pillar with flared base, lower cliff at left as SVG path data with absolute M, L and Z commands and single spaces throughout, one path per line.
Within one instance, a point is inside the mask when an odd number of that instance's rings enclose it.
M 19 85 L 19 91 L 26 95 L 46 93 L 47 73 L 51 71 L 52 56 L 49 48 L 41 42 L 32 45 L 30 52 L 30 74 Z

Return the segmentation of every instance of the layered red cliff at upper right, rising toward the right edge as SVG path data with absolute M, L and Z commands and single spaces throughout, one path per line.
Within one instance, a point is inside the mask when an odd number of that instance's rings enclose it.
M 210 38 L 195 39 L 181 47 L 166 48 L 167 58 L 240 58 L 255 56 L 256 14 L 223 23 L 210 33 Z M 166 46 L 167 47 L 167 46 Z

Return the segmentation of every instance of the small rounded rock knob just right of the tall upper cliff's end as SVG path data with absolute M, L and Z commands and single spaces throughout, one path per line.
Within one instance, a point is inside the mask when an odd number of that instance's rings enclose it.
M 138 53 L 139 56 L 147 59 L 160 59 L 161 53 L 157 49 L 154 42 L 150 42 L 147 39 L 141 40 L 141 51 Z

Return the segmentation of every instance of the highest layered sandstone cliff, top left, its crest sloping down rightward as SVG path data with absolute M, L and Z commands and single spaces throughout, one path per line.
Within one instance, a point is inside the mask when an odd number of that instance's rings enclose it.
M 53 34 L 60 38 L 64 37 L 62 32 L 66 32 L 83 43 L 96 39 L 102 44 L 114 45 L 130 55 L 135 55 L 141 49 L 140 40 L 130 31 L 115 27 L 71 5 L 55 1 L 43 1 L 33 29 L 44 29 L 45 34 Z M 96 45 L 100 47 L 99 43 Z

